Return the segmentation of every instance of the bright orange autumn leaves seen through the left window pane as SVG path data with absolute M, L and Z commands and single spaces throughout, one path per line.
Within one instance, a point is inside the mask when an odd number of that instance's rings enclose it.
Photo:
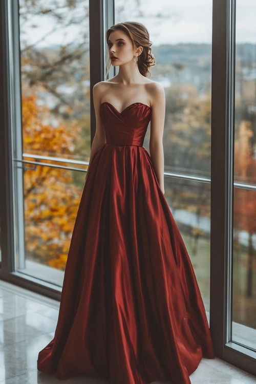
M 30 154 L 26 160 L 35 161 L 33 154 L 63 156 L 74 150 L 78 133 L 75 123 L 69 128 L 55 120 L 50 123 L 50 118 L 42 122 L 40 114 L 45 117 L 47 113 L 45 106 L 39 108 L 36 104 L 35 95 L 23 97 L 24 152 Z M 64 269 L 81 190 L 75 185 L 71 170 L 37 162 L 36 166 L 28 164 L 24 172 L 26 255 Z

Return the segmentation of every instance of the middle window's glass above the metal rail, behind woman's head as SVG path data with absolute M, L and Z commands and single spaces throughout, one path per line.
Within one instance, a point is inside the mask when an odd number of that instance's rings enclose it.
M 203 4 L 202 4 L 203 3 Z M 166 95 L 166 172 L 209 177 L 212 2 L 115 0 L 115 22 L 144 24 Z

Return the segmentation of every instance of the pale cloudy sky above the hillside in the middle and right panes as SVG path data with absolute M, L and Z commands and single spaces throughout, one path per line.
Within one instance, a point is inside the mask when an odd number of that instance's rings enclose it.
M 177 44 L 179 42 L 211 42 L 212 0 L 146 0 L 139 7 L 129 9 L 128 0 L 115 0 L 126 4 L 123 12 L 116 14 L 116 21 L 129 18 L 144 22 L 154 44 Z M 126 12 L 125 12 L 126 9 Z M 126 14 L 125 14 L 126 13 Z M 160 14 L 160 17 L 156 17 Z M 127 16 L 128 15 L 128 16 Z M 237 41 L 256 42 L 256 0 L 237 0 Z

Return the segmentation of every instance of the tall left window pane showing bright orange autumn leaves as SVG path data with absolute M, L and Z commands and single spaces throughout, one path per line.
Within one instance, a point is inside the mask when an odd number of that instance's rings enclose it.
M 86 175 L 76 169 L 90 155 L 89 1 L 19 0 L 19 10 L 16 269 L 61 286 Z

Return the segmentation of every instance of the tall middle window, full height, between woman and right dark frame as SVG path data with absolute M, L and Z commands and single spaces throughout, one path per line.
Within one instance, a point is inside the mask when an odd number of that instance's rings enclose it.
M 200 10 L 200 12 L 199 12 Z M 203 13 L 204 17 L 201 17 Z M 153 42 L 151 79 L 166 97 L 165 197 L 181 230 L 209 310 L 210 1 L 115 1 L 115 23 L 144 24 Z M 196 28 L 195 28 L 196 26 Z

